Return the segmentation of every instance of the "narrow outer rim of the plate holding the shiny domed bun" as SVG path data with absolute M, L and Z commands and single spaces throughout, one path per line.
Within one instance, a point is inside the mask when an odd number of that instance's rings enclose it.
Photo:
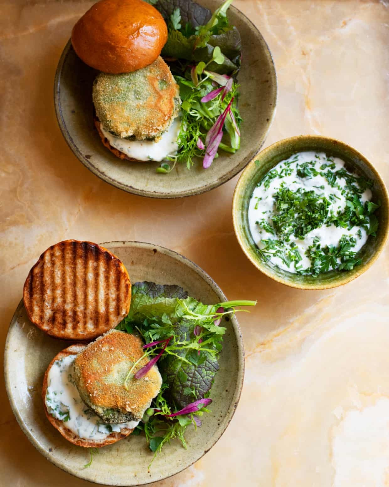
M 275 114 L 276 114 L 276 106 L 277 106 L 277 100 L 278 100 L 278 80 L 277 80 L 277 71 L 274 63 L 273 56 L 271 54 L 271 51 L 269 49 L 269 46 L 265 40 L 265 38 L 262 36 L 260 30 L 258 27 L 237 7 L 234 5 L 230 5 L 230 10 L 233 10 L 236 15 L 241 15 L 243 18 L 247 21 L 248 24 L 252 26 L 252 28 L 258 33 L 259 37 L 261 37 L 262 41 L 264 42 L 265 45 L 265 50 L 266 50 L 266 57 L 269 60 L 270 66 L 272 67 L 272 75 L 274 75 L 274 99 L 272 100 L 272 110 L 270 117 L 268 121 L 266 122 L 266 130 L 263 133 L 263 140 L 262 143 L 257 147 L 255 150 L 255 153 L 247 157 L 247 162 L 244 162 L 242 165 L 242 162 L 239 163 L 235 168 L 231 169 L 230 171 L 226 172 L 222 177 L 220 177 L 216 182 L 212 184 L 206 184 L 205 186 L 196 189 L 196 190 L 189 190 L 189 191 L 175 191 L 173 193 L 164 193 L 164 192 L 157 192 L 157 191 L 152 191 L 152 190 L 141 190 L 135 187 L 132 187 L 130 185 L 125 185 L 121 183 L 120 181 L 117 181 L 113 178 L 111 178 L 108 174 L 103 173 L 99 169 L 97 169 L 91 162 L 90 160 L 86 159 L 83 154 L 80 152 L 76 144 L 74 143 L 69 131 L 67 130 L 67 126 L 65 123 L 65 120 L 62 115 L 62 109 L 61 109 L 61 104 L 59 102 L 59 97 L 60 97 L 60 79 L 61 79 L 61 73 L 62 69 L 64 66 L 65 59 L 69 53 L 69 49 L 71 47 L 71 39 L 68 40 L 66 43 L 62 54 L 59 58 L 56 70 L 55 70 L 55 76 L 54 76 L 54 90 L 53 90 L 53 95 L 54 95 L 54 109 L 55 109 L 55 116 L 57 119 L 58 126 L 60 128 L 60 131 L 62 133 L 63 138 L 65 139 L 67 145 L 73 152 L 73 154 L 77 157 L 77 159 L 88 169 L 90 170 L 95 176 L 100 178 L 102 181 L 105 181 L 109 185 L 113 187 L 117 187 L 121 189 L 122 191 L 125 191 L 127 193 L 135 194 L 137 196 L 142 196 L 145 198 L 157 198 L 157 199 L 174 199 L 174 198 L 187 198 L 189 196 L 196 196 L 202 193 L 205 193 L 207 191 L 211 191 L 212 189 L 215 189 L 216 187 L 222 186 L 223 184 L 227 183 L 230 181 L 234 176 L 236 176 L 238 173 L 240 173 L 243 169 L 247 167 L 249 162 L 252 160 L 253 157 L 255 157 L 258 152 L 262 149 L 263 145 L 265 144 L 265 140 L 267 138 L 267 135 L 270 131 L 270 128 L 273 124 Z M 241 167 L 242 166 L 242 167 Z

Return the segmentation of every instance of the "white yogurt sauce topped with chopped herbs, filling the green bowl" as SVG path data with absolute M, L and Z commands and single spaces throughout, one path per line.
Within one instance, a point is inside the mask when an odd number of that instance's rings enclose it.
M 251 235 L 263 260 L 297 274 L 351 270 L 375 236 L 372 182 L 323 152 L 299 152 L 271 169 L 248 207 Z

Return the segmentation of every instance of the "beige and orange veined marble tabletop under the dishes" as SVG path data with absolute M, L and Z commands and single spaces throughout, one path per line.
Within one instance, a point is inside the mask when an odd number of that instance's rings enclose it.
M 230 427 L 165 486 L 389 485 L 389 250 L 341 289 L 289 289 L 246 260 L 233 233 L 236 178 L 176 201 L 126 194 L 93 176 L 57 127 L 55 67 L 78 0 L 0 3 L 1 343 L 26 274 L 67 238 L 139 240 L 186 255 L 230 299 L 258 299 L 240 316 L 246 379 Z M 344 140 L 389 182 L 387 1 L 235 0 L 259 27 L 279 80 L 265 145 L 300 133 Z M 1 346 L 1 350 L 3 347 Z M 1 384 L 0 485 L 87 487 L 29 443 Z M 95 460 L 97 461 L 97 460 Z

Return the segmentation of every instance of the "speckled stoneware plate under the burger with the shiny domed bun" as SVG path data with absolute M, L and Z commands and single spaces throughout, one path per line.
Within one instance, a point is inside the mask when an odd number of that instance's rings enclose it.
M 201 4 L 213 12 L 220 1 L 201 0 Z M 233 6 L 228 16 L 242 37 L 241 148 L 235 154 L 221 151 L 220 157 L 206 170 L 199 161 L 190 170 L 181 164 L 169 174 L 158 174 L 156 168 L 160 163 L 122 161 L 106 149 L 92 118 L 92 83 L 98 72 L 84 64 L 68 42 L 55 74 L 55 112 L 69 147 L 96 176 L 141 196 L 178 198 L 226 183 L 260 150 L 273 121 L 277 100 L 273 59 L 261 33 L 246 16 Z

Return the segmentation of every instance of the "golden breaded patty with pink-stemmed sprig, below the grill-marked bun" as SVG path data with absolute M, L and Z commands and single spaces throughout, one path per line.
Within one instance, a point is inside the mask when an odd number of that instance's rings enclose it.
M 134 374 L 149 361 L 141 338 L 111 330 L 90 343 L 74 361 L 74 378 L 81 399 L 107 423 L 139 421 L 159 393 L 162 378 L 157 366 L 135 379 Z M 127 386 L 127 387 L 125 387 Z

